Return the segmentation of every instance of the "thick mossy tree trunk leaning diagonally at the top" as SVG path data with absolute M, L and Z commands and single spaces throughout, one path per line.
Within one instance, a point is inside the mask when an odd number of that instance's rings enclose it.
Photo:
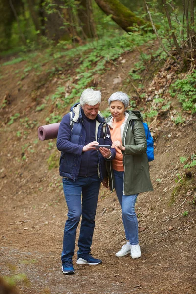
M 132 27 L 136 25 L 152 27 L 150 22 L 137 17 L 131 10 L 121 4 L 118 0 L 95 0 L 98 6 L 107 15 L 112 15 L 115 21 L 126 32 L 133 31 Z

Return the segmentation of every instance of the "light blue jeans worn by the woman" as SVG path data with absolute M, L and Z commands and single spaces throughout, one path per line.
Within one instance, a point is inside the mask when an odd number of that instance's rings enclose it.
M 115 190 L 119 203 L 122 209 L 123 225 L 126 235 L 126 240 L 129 240 L 131 245 L 139 243 L 138 239 L 138 219 L 135 213 L 135 203 L 138 194 L 124 195 L 124 172 L 113 170 L 115 178 Z

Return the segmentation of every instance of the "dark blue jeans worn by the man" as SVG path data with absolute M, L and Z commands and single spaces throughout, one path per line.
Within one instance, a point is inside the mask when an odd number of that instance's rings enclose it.
M 78 258 L 81 254 L 91 252 L 99 188 L 100 179 L 98 174 L 91 177 L 78 177 L 75 182 L 71 179 L 63 178 L 68 219 L 65 223 L 63 236 L 62 262 L 72 260 L 75 251 L 76 230 L 81 215 Z

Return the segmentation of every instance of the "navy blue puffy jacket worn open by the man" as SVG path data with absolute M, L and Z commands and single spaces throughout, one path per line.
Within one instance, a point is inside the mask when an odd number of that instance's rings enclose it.
M 81 106 L 77 103 L 73 105 L 70 113 L 67 113 L 62 118 L 59 126 L 57 148 L 61 151 L 60 176 L 73 179 L 74 181 L 77 179 L 80 171 L 82 154 L 84 153 L 82 149 L 85 145 L 85 139 L 86 130 L 83 125 Z M 99 144 L 112 145 L 109 128 L 100 112 L 96 117 L 95 140 L 98 141 Z M 98 158 L 98 176 L 102 181 L 106 172 L 106 159 L 102 156 L 100 151 L 95 152 L 97 152 Z M 115 157 L 116 150 L 111 149 L 111 153 L 112 158 L 110 160 Z

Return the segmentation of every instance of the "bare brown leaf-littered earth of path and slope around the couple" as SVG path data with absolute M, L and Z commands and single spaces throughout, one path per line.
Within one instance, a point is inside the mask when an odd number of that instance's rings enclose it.
M 94 85 L 102 89 L 100 110 L 107 108 L 113 92 L 124 89 L 125 74 L 137 58 L 138 52 L 126 53 L 117 60 L 121 66 L 111 65 L 95 77 Z M 1 65 L 4 62 L 0 60 Z M 56 140 L 37 137 L 37 128 L 46 124 L 53 105 L 48 100 L 42 111 L 36 111 L 35 99 L 42 104 L 60 79 L 41 83 L 29 73 L 19 85 L 16 71 L 24 68 L 25 61 L 1 67 L 0 105 L 5 100 L 7 105 L 0 109 L 0 275 L 15 281 L 21 294 L 195 294 L 196 169 L 187 171 L 180 162 L 180 157 L 196 154 L 195 117 L 187 114 L 185 123 L 175 125 L 172 115 L 180 105 L 171 98 L 170 110 L 151 122 L 154 192 L 140 194 L 136 204 L 142 257 L 115 256 L 125 243 L 121 209 L 115 192 L 101 187 L 92 254 L 102 264 L 77 265 L 76 245 L 76 272 L 66 276 L 60 256 L 67 207 L 58 166 L 49 170 L 48 165 L 51 154 L 58 159 L 59 152 Z M 163 73 L 156 75 L 162 76 L 159 87 L 165 87 L 167 75 L 175 71 Z M 62 114 L 68 111 L 69 107 Z M 9 124 L 16 113 L 20 117 Z

